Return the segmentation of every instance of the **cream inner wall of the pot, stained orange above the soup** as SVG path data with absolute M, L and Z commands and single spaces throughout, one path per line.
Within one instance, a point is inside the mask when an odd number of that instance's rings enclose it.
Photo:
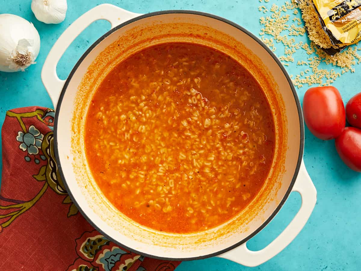
M 216 48 L 247 68 L 269 100 L 277 131 L 271 171 L 251 204 L 226 223 L 198 233 L 158 232 L 127 218 L 98 188 L 84 152 L 87 109 L 102 79 L 132 53 L 166 42 Z M 175 259 L 217 253 L 256 231 L 290 188 L 300 152 L 300 121 L 291 87 L 273 57 L 252 37 L 226 22 L 196 14 L 162 14 L 132 22 L 88 53 L 66 90 L 57 108 L 58 152 L 66 182 L 83 214 L 107 236 L 132 250 Z

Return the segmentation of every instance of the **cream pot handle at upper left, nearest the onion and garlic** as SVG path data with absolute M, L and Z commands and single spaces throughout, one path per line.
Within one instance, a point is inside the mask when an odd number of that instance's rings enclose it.
M 65 84 L 65 80 L 59 79 L 56 74 L 56 65 L 73 40 L 96 20 L 107 20 L 110 22 L 111 28 L 113 28 L 139 15 L 141 14 L 133 13 L 114 5 L 101 4 L 80 16 L 60 35 L 45 59 L 41 74 L 43 84 L 53 102 L 54 109 L 57 106 L 61 90 Z

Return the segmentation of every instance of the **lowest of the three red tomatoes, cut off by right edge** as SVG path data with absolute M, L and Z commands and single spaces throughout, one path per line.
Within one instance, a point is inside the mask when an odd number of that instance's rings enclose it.
M 346 127 L 336 138 L 335 145 L 342 161 L 351 169 L 361 172 L 361 130 Z

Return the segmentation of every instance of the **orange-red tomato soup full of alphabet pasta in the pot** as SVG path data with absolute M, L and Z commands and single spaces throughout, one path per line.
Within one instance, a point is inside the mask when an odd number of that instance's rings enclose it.
M 146 227 L 204 231 L 264 185 L 275 128 L 266 96 L 237 61 L 165 43 L 119 63 L 92 97 L 86 156 L 105 197 Z

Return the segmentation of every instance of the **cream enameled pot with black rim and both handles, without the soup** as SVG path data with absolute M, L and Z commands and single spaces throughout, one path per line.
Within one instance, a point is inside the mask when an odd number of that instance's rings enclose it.
M 60 57 L 82 30 L 99 19 L 108 20 L 112 29 L 84 53 L 68 79 L 60 80 L 56 74 Z M 119 61 L 164 42 L 199 43 L 230 55 L 255 75 L 274 113 L 275 158 L 261 192 L 234 219 L 199 233 L 158 232 L 127 218 L 101 193 L 84 154 L 84 121 L 96 87 Z M 44 63 L 42 80 L 56 107 L 55 153 L 66 188 L 84 217 L 125 248 L 161 259 L 217 256 L 257 266 L 290 244 L 312 213 L 316 189 L 302 160 L 304 126 L 296 91 L 277 57 L 235 23 L 201 12 L 171 10 L 141 15 L 102 4 L 75 20 L 60 36 Z M 292 191 L 302 198 L 295 218 L 266 248 L 248 250 L 247 240 L 270 222 Z

